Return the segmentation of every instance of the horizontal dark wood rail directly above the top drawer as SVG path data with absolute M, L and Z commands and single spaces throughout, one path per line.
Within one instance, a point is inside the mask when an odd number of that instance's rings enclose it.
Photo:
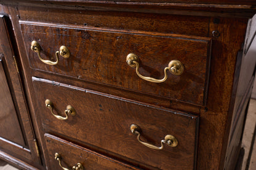
M 209 31 L 209 17 L 115 12 L 109 10 L 66 9 L 60 13 L 59 9 L 56 8 L 45 10 L 43 7 L 34 7 L 31 9 L 28 6 L 21 6 L 19 14 L 20 20 L 23 21 L 84 25 L 84 28 L 94 26 L 96 28 L 150 31 L 204 37 L 208 35 Z M 60 18 L 63 18 L 63 20 Z

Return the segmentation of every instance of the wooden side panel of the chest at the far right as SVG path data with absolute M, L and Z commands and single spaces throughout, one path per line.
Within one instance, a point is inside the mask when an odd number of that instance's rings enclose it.
M 231 128 L 228 143 L 226 150 L 226 163 L 225 167 L 233 167 L 232 162 L 236 161 L 238 153 L 241 150 L 241 137 L 242 130 L 244 126 L 244 120 L 246 117 L 246 107 L 249 101 L 252 86 L 254 83 L 255 75 L 255 17 L 252 18 L 247 26 L 247 35 L 244 44 L 244 51 L 238 55 L 238 63 L 242 63 L 239 66 L 236 66 L 236 79 L 234 80 L 233 93 L 236 94 L 236 98 L 231 100 L 231 110 L 233 112 L 230 117 Z M 234 153 L 237 154 L 234 154 Z

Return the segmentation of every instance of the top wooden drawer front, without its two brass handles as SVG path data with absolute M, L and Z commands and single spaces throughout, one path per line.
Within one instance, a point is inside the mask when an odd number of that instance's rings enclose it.
M 20 24 L 33 69 L 161 98 L 197 105 L 206 103 L 210 38 L 36 25 L 22 21 Z M 32 41 L 39 43 L 44 60 L 55 61 L 55 52 L 61 45 L 70 50 L 70 57 L 60 56 L 60 61 L 54 66 L 42 63 L 38 53 L 30 48 Z M 129 53 L 138 56 L 138 72 L 145 77 L 162 79 L 164 68 L 171 60 L 180 61 L 185 71 L 182 75 L 167 71 L 167 80 L 162 83 L 147 82 L 126 63 Z

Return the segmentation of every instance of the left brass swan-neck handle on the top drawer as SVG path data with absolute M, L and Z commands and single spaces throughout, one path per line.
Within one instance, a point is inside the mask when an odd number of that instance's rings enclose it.
M 65 45 L 62 45 L 60 47 L 60 50 L 55 52 L 56 61 L 43 60 L 41 58 L 41 55 L 40 55 L 41 47 L 40 47 L 39 43 L 36 42 L 36 41 L 32 41 L 31 42 L 31 50 L 33 50 L 34 52 L 38 53 L 38 57 L 42 61 L 42 63 L 46 63 L 46 64 L 49 64 L 49 65 L 56 65 L 56 64 L 58 64 L 58 55 L 63 56 L 63 58 L 69 58 L 70 57 L 70 50 L 68 50 L 68 48 Z

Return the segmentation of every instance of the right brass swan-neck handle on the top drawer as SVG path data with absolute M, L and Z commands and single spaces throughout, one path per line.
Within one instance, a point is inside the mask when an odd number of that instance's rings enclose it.
M 164 68 L 164 78 L 162 79 L 154 79 L 152 77 L 146 77 L 143 76 L 142 74 L 140 74 L 140 72 L 138 72 L 138 68 L 140 66 L 140 60 L 138 58 L 137 55 L 135 55 L 134 53 L 129 53 L 129 55 L 127 55 L 126 57 L 126 63 L 132 67 L 132 68 L 136 68 L 136 73 L 138 75 L 138 77 L 147 80 L 149 82 L 154 82 L 154 83 L 161 83 L 164 82 L 167 79 L 167 70 L 169 70 L 172 74 L 174 75 L 181 75 L 184 71 L 184 66 L 183 64 L 178 61 L 178 60 L 172 60 L 170 61 L 170 63 L 168 64 L 168 66 L 166 68 Z

